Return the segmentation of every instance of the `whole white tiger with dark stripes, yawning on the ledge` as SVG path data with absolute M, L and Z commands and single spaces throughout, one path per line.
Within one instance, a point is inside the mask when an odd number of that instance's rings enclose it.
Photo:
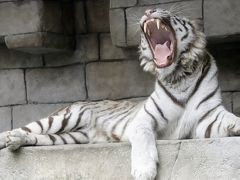
M 239 135 L 240 119 L 222 106 L 217 67 L 198 25 L 162 9 L 147 10 L 140 25 L 141 66 L 156 77 L 146 101 L 77 102 L 2 133 L 0 148 L 130 141 L 133 177 L 152 180 L 156 139 Z

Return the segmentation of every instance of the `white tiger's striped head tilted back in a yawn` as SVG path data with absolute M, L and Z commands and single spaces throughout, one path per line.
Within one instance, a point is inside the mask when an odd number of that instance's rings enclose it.
M 146 10 L 140 20 L 140 61 L 159 80 L 191 74 L 206 54 L 206 40 L 197 21 L 162 9 Z M 178 74 L 177 74 L 178 73 Z

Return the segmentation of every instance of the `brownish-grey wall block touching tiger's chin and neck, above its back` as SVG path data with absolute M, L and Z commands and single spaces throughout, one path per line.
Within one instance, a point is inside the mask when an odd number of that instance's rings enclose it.
M 90 63 L 86 73 L 91 100 L 146 96 L 153 91 L 154 79 L 138 61 Z

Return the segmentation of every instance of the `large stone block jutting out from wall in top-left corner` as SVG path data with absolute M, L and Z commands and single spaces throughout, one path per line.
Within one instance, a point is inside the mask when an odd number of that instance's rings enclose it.
M 0 36 L 9 49 L 38 54 L 72 50 L 73 21 L 70 1 L 0 3 Z

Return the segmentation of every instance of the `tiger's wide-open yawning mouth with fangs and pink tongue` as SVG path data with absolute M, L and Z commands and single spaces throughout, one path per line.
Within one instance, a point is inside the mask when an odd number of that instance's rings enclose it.
M 172 27 L 160 19 L 147 19 L 142 30 L 151 48 L 153 60 L 158 68 L 170 66 L 174 59 L 176 47 Z

